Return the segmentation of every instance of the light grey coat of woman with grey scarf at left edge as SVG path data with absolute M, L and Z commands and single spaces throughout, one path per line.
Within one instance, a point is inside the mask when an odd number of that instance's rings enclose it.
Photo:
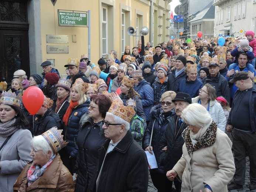
M 0 146 L 6 137 L 0 136 Z M 0 191 L 12 192 L 13 184 L 23 168 L 32 160 L 30 156 L 32 135 L 29 130 L 19 129 L 0 151 Z

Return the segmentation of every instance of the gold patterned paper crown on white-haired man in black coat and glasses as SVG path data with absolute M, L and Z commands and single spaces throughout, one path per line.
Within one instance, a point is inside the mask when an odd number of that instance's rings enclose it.
M 135 110 L 133 109 L 133 107 L 124 106 L 117 99 L 112 102 L 108 112 L 118 117 L 121 117 L 123 120 L 127 121 L 128 123 L 130 123 L 133 116 L 135 115 Z

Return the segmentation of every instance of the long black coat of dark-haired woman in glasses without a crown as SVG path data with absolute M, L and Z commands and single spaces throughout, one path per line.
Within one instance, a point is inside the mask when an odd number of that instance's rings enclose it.
M 91 184 L 93 174 L 97 169 L 99 161 L 99 149 L 106 137 L 102 129 L 104 121 L 94 124 L 93 119 L 84 114 L 80 120 L 80 127 L 77 136 L 78 155 L 76 157 L 75 170 L 76 178 L 75 191 L 85 192 Z

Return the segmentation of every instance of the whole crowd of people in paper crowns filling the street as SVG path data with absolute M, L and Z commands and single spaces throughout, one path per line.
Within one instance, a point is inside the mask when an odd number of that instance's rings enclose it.
M 146 152 L 158 192 L 241 189 L 246 155 L 256 189 L 254 36 L 142 36 L 120 60 L 69 58 L 66 77 L 50 61 L 41 75 L 17 70 L 0 82 L 1 190 L 146 192 Z M 35 115 L 22 103 L 31 86 L 44 94 Z

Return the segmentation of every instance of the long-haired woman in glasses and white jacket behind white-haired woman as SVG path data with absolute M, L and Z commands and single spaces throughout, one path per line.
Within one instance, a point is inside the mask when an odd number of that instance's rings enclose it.
M 205 107 L 220 130 L 226 130 L 226 117 L 221 104 L 216 100 L 216 90 L 210 84 L 205 84 L 199 89 L 199 96 L 192 98 L 192 103 L 199 103 Z

